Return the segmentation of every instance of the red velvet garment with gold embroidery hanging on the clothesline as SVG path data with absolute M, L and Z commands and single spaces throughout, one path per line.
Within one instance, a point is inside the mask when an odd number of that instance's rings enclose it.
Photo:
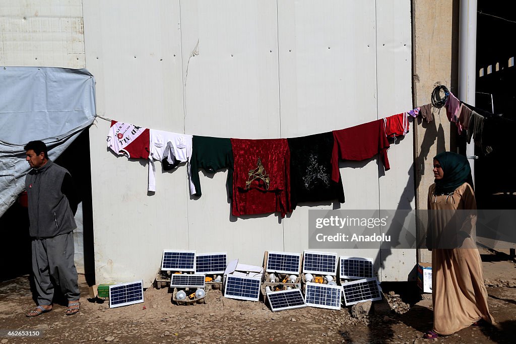
M 286 139 L 231 139 L 234 216 L 292 211 L 290 151 Z

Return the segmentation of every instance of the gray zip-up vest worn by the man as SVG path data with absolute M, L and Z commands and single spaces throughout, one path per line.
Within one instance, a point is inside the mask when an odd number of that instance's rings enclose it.
M 43 167 L 30 170 L 25 177 L 31 237 L 52 238 L 77 227 L 68 199 L 61 192 L 67 173 L 49 160 Z

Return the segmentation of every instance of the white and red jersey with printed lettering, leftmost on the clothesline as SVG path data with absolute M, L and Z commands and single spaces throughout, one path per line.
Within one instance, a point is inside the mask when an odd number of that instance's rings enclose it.
M 149 129 L 133 124 L 111 121 L 107 136 L 107 147 L 118 155 L 127 158 L 149 158 L 150 134 Z

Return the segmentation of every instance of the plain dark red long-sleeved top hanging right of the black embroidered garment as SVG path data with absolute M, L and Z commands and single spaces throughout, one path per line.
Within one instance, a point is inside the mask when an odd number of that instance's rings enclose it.
M 385 171 L 389 170 L 389 140 L 385 136 L 383 119 L 333 130 L 333 152 L 331 158 L 331 179 L 338 182 L 338 158 L 344 160 L 364 160 L 380 154 Z

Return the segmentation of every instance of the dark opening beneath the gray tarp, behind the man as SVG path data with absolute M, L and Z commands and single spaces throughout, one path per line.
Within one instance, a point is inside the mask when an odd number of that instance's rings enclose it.
M 78 163 L 79 161 L 79 163 Z M 93 257 L 93 217 L 91 205 L 91 168 L 89 132 L 84 130 L 55 161 L 70 171 L 83 203 L 83 252 L 86 281 L 95 283 Z M 14 203 L 0 217 L 3 249 L 0 250 L 0 282 L 31 273 L 31 249 L 27 208 Z

